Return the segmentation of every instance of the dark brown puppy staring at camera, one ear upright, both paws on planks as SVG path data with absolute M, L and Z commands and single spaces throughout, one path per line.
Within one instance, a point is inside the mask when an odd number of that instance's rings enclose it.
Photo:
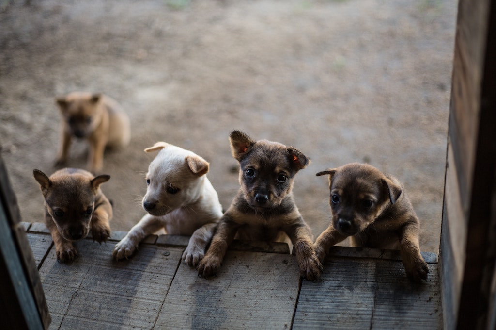
M 230 142 L 232 154 L 240 163 L 241 188 L 221 218 L 210 248 L 198 265 L 198 274 L 204 278 L 215 275 L 235 237 L 267 242 L 289 237 L 302 276 L 318 279 L 322 265 L 292 193 L 295 174 L 309 160 L 295 148 L 255 141 L 240 131 L 231 133 Z

